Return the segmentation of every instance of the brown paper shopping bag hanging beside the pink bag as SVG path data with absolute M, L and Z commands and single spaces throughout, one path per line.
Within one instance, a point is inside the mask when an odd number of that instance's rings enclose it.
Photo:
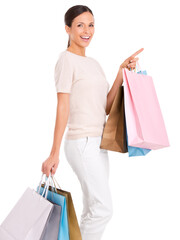
M 128 149 L 125 132 L 123 88 L 123 86 L 119 87 L 113 101 L 109 117 L 103 130 L 100 148 L 126 153 Z

